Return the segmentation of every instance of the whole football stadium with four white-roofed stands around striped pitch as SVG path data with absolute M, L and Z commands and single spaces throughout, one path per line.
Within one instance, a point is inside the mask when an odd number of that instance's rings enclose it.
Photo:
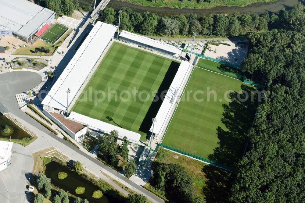
M 75 140 L 91 129 L 146 141 L 154 117 L 165 130 L 191 71 L 181 48 L 124 30 L 117 41 L 116 30 L 98 21 L 42 101 L 45 115 Z M 72 121 L 84 127 L 73 129 Z

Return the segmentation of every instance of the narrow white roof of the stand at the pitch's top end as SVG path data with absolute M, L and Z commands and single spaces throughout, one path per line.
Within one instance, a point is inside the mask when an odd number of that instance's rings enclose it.
M 124 37 L 126 39 L 148 45 L 149 47 L 162 49 L 164 51 L 171 52 L 173 54 L 181 55 L 181 52 L 182 52 L 182 48 L 177 48 L 173 45 L 165 44 L 163 42 L 160 42 L 160 41 L 148 38 L 148 37 L 144 37 L 144 36 L 141 36 L 141 35 L 138 35 L 138 34 L 127 32 L 125 30 L 123 30 L 120 33 L 120 37 Z

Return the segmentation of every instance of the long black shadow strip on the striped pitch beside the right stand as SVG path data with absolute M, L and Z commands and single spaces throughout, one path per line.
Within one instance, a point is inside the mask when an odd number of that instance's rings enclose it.
M 160 109 L 160 106 L 162 105 L 163 97 L 165 97 L 165 94 L 163 94 L 163 91 L 167 91 L 170 88 L 170 84 L 174 80 L 174 77 L 178 71 L 178 68 L 180 66 L 180 63 L 172 61 L 170 63 L 170 67 L 168 68 L 164 79 L 162 83 L 160 84 L 160 87 L 158 89 L 158 92 L 156 93 L 156 96 L 154 97 L 154 100 L 152 101 L 152 104 L 150 105 L 141 125 L 139 128 L 139 131 L 146 133 L 147 136 L 149 136 L 149 129 L 152 125 L 152 118 L 156 117 L 157 112 Z M 159 98 L 159 99 L 157 99 Z M 147 137 L 146 137 L 147 138 Z

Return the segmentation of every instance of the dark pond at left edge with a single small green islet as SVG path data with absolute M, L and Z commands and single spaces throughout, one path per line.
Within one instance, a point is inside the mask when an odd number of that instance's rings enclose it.
M 11 130 L 10 133 L 4 133 L 3 129 L 5 125 L 9 126 Z M 27 132 L 22 130 L 19 126 L 17 126 L 13 121 L 0 113 L 0 138 L 9 138 L 11 139 L 22 139 L 23 137 L 31 137 Z

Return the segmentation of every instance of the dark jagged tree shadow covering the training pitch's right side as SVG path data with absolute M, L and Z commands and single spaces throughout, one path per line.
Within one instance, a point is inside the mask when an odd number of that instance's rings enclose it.
M 243 101 L 246 98 L 245 93 L 240 94 L 240 96 L 237 92 L 229 94 L 229 98 L 233 101 L 229 104 L 223 104 L 224 113 L 221 119 L 228 131 L 218 126 L 219 146 L 214 149 L 213 154 L 208 156 L 210 160 L 225 166 L 232 167 L 242 158 L 246 144 L 245 133 L 251 127 L 257 108 L 257 94 L 253 95 L 251 102 L 251 91 L 256 89 L 244 84 L 242 84 L 241 89 L 248 92 L 249 98 Z

